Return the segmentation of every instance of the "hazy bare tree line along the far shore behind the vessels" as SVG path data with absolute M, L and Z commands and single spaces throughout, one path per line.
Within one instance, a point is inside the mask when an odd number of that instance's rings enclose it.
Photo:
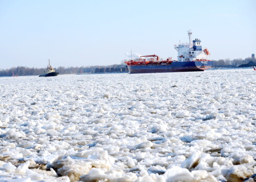
M 214 67 L 229 67 L 235 68 L 241 64 L 246 64 L 249 61 L 254 61 L 251 57 L 246 59 L 219 59 L 214 61 Z M 76 74 L 76 73 L 92 73 L 96 68 L 110 68 L 121 67 L 123 64 L 113 64 L 110 66 L 87 66 L 87 67 L 58 67 L 54 68 L 56 72 L 60 74 Z M 45 71 L 45 68 L 28 68 L 28 67 L 13 67 L 10 69 L 0 69 L 0 76 L 27 76 L 27 75 L 39 75 Z

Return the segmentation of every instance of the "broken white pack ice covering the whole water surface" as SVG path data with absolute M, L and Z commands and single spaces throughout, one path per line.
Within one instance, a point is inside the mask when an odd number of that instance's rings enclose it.
M 253 181 L 255 76 L 0 77 L 0 181 Z

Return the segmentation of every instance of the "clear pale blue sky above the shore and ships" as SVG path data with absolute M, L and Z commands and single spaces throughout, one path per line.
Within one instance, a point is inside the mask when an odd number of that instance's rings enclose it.
M 0 69 L 109 65 L 126 53 L 177 58 L 200 38 L 211 59 L 256 54 L 256 1 L 0 0 Z

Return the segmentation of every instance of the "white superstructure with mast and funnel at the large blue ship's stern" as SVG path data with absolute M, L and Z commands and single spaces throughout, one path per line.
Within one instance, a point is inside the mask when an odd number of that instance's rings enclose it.
M 189 44 L 174 45 L 178 51 L 178 61 L 207 61 L 210 56 L 207 48 L 202 48 L 201 41 L 198 38 L 191 41 L 192 32 L 188 31 Z

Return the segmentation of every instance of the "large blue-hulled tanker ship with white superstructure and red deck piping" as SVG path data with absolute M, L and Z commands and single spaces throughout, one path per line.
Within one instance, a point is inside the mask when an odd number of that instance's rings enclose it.
M 210 53 L 207 48 L 202 48 L 198 38 L 192 41 L 192 32 L 188 31 L 189 43 L 174 45 L 178 51 L 177 60 L 171 57 L 162 60 L 157 55 L 140 56 L 138 59 L 125 61 L 129 73 L 164 73 L 204 71 L 212 67 L 213 61 L 208 59 Z

